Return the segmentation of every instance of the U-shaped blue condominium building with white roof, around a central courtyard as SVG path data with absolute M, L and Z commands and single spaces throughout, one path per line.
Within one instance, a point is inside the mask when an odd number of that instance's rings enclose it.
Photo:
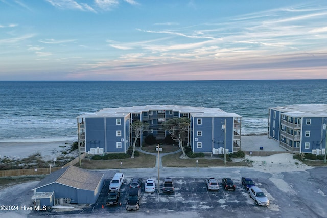
M 78 141 L 91 154 L 126 153 L 133 143 L 132 123 L 147 122 L 148 130 L 137 141 L 142 146 L 148 135 L 164 139 L 168 131 L 162 123 L 186 117 L 191 120 L 187 144 L 193 152 L 232 153 L 241 147 L 241 119 L 236 113 L 219 108 L 179 105 L 146 105 L 104 108 L 77 117 Z

